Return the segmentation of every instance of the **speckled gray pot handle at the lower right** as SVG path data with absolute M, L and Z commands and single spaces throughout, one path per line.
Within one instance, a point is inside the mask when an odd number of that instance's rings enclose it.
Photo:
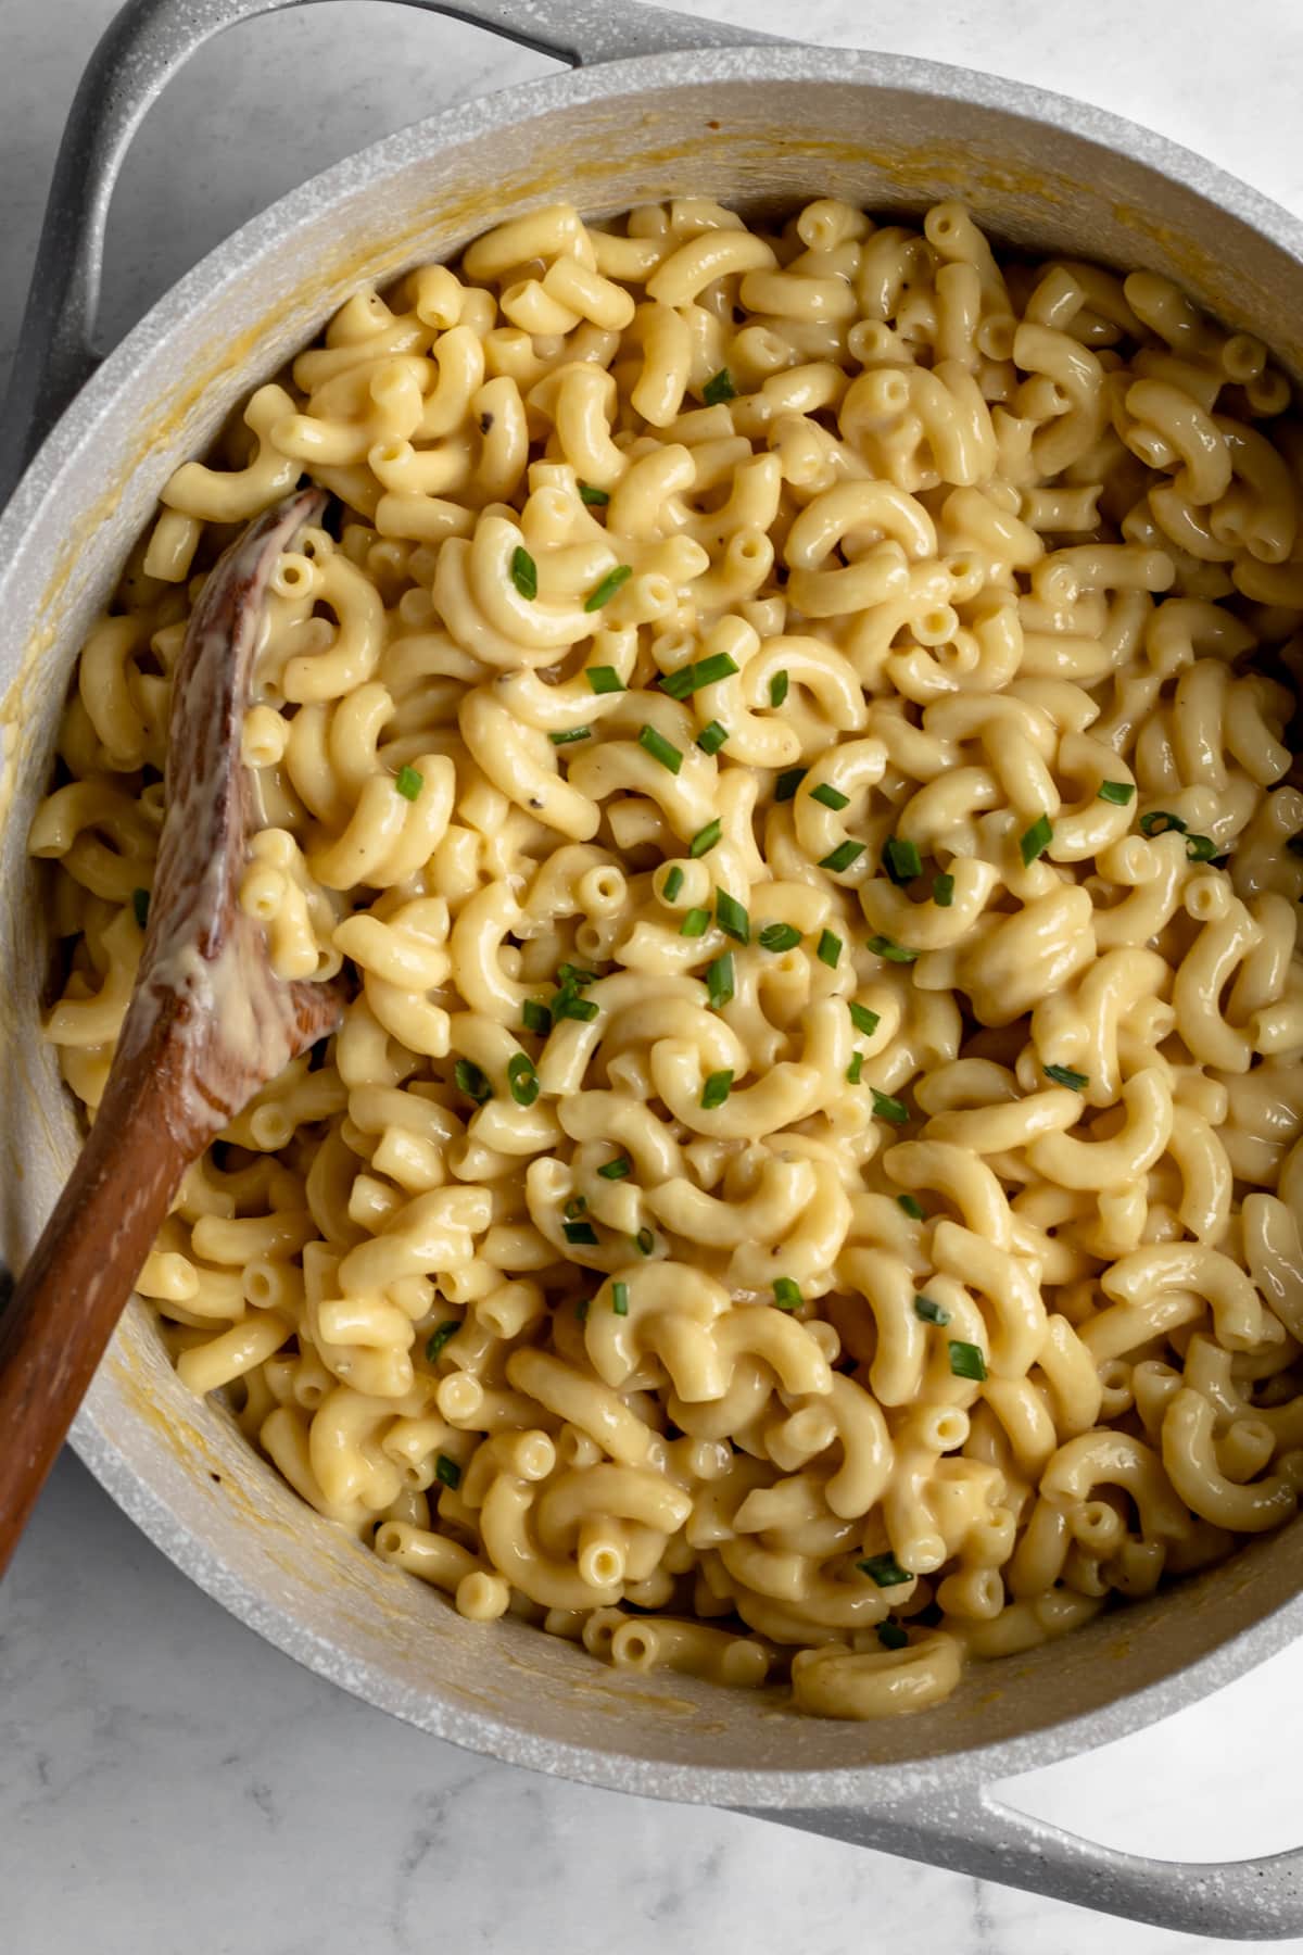
M 955 1787 L 940 1801 L 924 1793 L 916 1808 L 881 1812 L 738 1810 L 1188 1935 L 1283 1941 L 1303 1933 L 1303 1847 L 1262 1859 L 1149 1859 L 1018 1812 L 988 1785 Z

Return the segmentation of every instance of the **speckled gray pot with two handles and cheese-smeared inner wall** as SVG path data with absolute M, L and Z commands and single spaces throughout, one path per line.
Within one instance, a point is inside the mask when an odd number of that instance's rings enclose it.
M 359 278 L 387 280 L 557 196 L 836 194 L 920 211 L 959 192 L 1014 244 L 1168 272 L 1303 371 L 1303 229 L 1170 143 L 1055 96 L 711 27 L 627 0 L 414 0 L 574 72 L 377 143 L 215 250 L 94 373 L 109 188 L 176 66 L 297 0 L 135 0 L 78 94 L 20 350 L 12 448 L 66 407 L 0 522 L 0 1247 L 21 1265 L 78 1146 L 39 1038 L 45 938 L 23 852 L 64 680 L 174 465 Z M 801 135 L 793 135 L 801 131 Z M 92 375 L 90 379 L 86 375 Z M 828 1724 L 678 1675 L 637 1683 L 520 1625 L 483 1629 L 309 1511 L 180 1386 L 133 1304 L 72 1443 L 113 1499 L 268 1640 L 369 1703 L 494 1758 L 701 1801 L 1229 1937 L 1303 1930 L 1303 1849 L 1178 1867 L 996 1803 L 990 1781 L 1117 1738 L 1227 1683 L 1303 1627 L 1303 1527 L 979 1672 L 924 1716 Z

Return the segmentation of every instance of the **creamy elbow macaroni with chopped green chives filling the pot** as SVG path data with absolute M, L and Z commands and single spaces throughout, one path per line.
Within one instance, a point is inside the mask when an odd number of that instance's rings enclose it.
M 94 1114 L 186 618 L 307 471 L 240 901 L 352 1003 L 143 1271 L 182 1378 L 465 1617 L 826 1716 L 1287 1521 L 1287 401 L 951 203 L 350 299 L 168 483 L 31 831 Z

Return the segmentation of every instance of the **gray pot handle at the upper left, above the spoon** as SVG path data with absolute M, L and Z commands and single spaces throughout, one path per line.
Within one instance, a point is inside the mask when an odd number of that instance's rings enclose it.
M 127 0 L 90 57 L 51 182 L 0 422 L 0 500 L 98 364 L 94 325 L 113 184 L 145 113 L 189 57 L 244 20 L 307 0 Z M 570 66 L 772 41 L 637 0 L 402 0 Z

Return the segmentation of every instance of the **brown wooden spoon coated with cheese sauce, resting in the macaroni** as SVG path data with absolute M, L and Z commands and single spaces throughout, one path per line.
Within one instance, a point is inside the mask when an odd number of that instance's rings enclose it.
M 240 723 L 268 579 L 324 504 L 311 489 L 258 516 L 186 631 L 137 987 L 90 1138 L 0 1308 L 0 1574 L 186 1167 L 340 1022 L 338 985 L 279 979 L 236 903 L 254 813 Z

